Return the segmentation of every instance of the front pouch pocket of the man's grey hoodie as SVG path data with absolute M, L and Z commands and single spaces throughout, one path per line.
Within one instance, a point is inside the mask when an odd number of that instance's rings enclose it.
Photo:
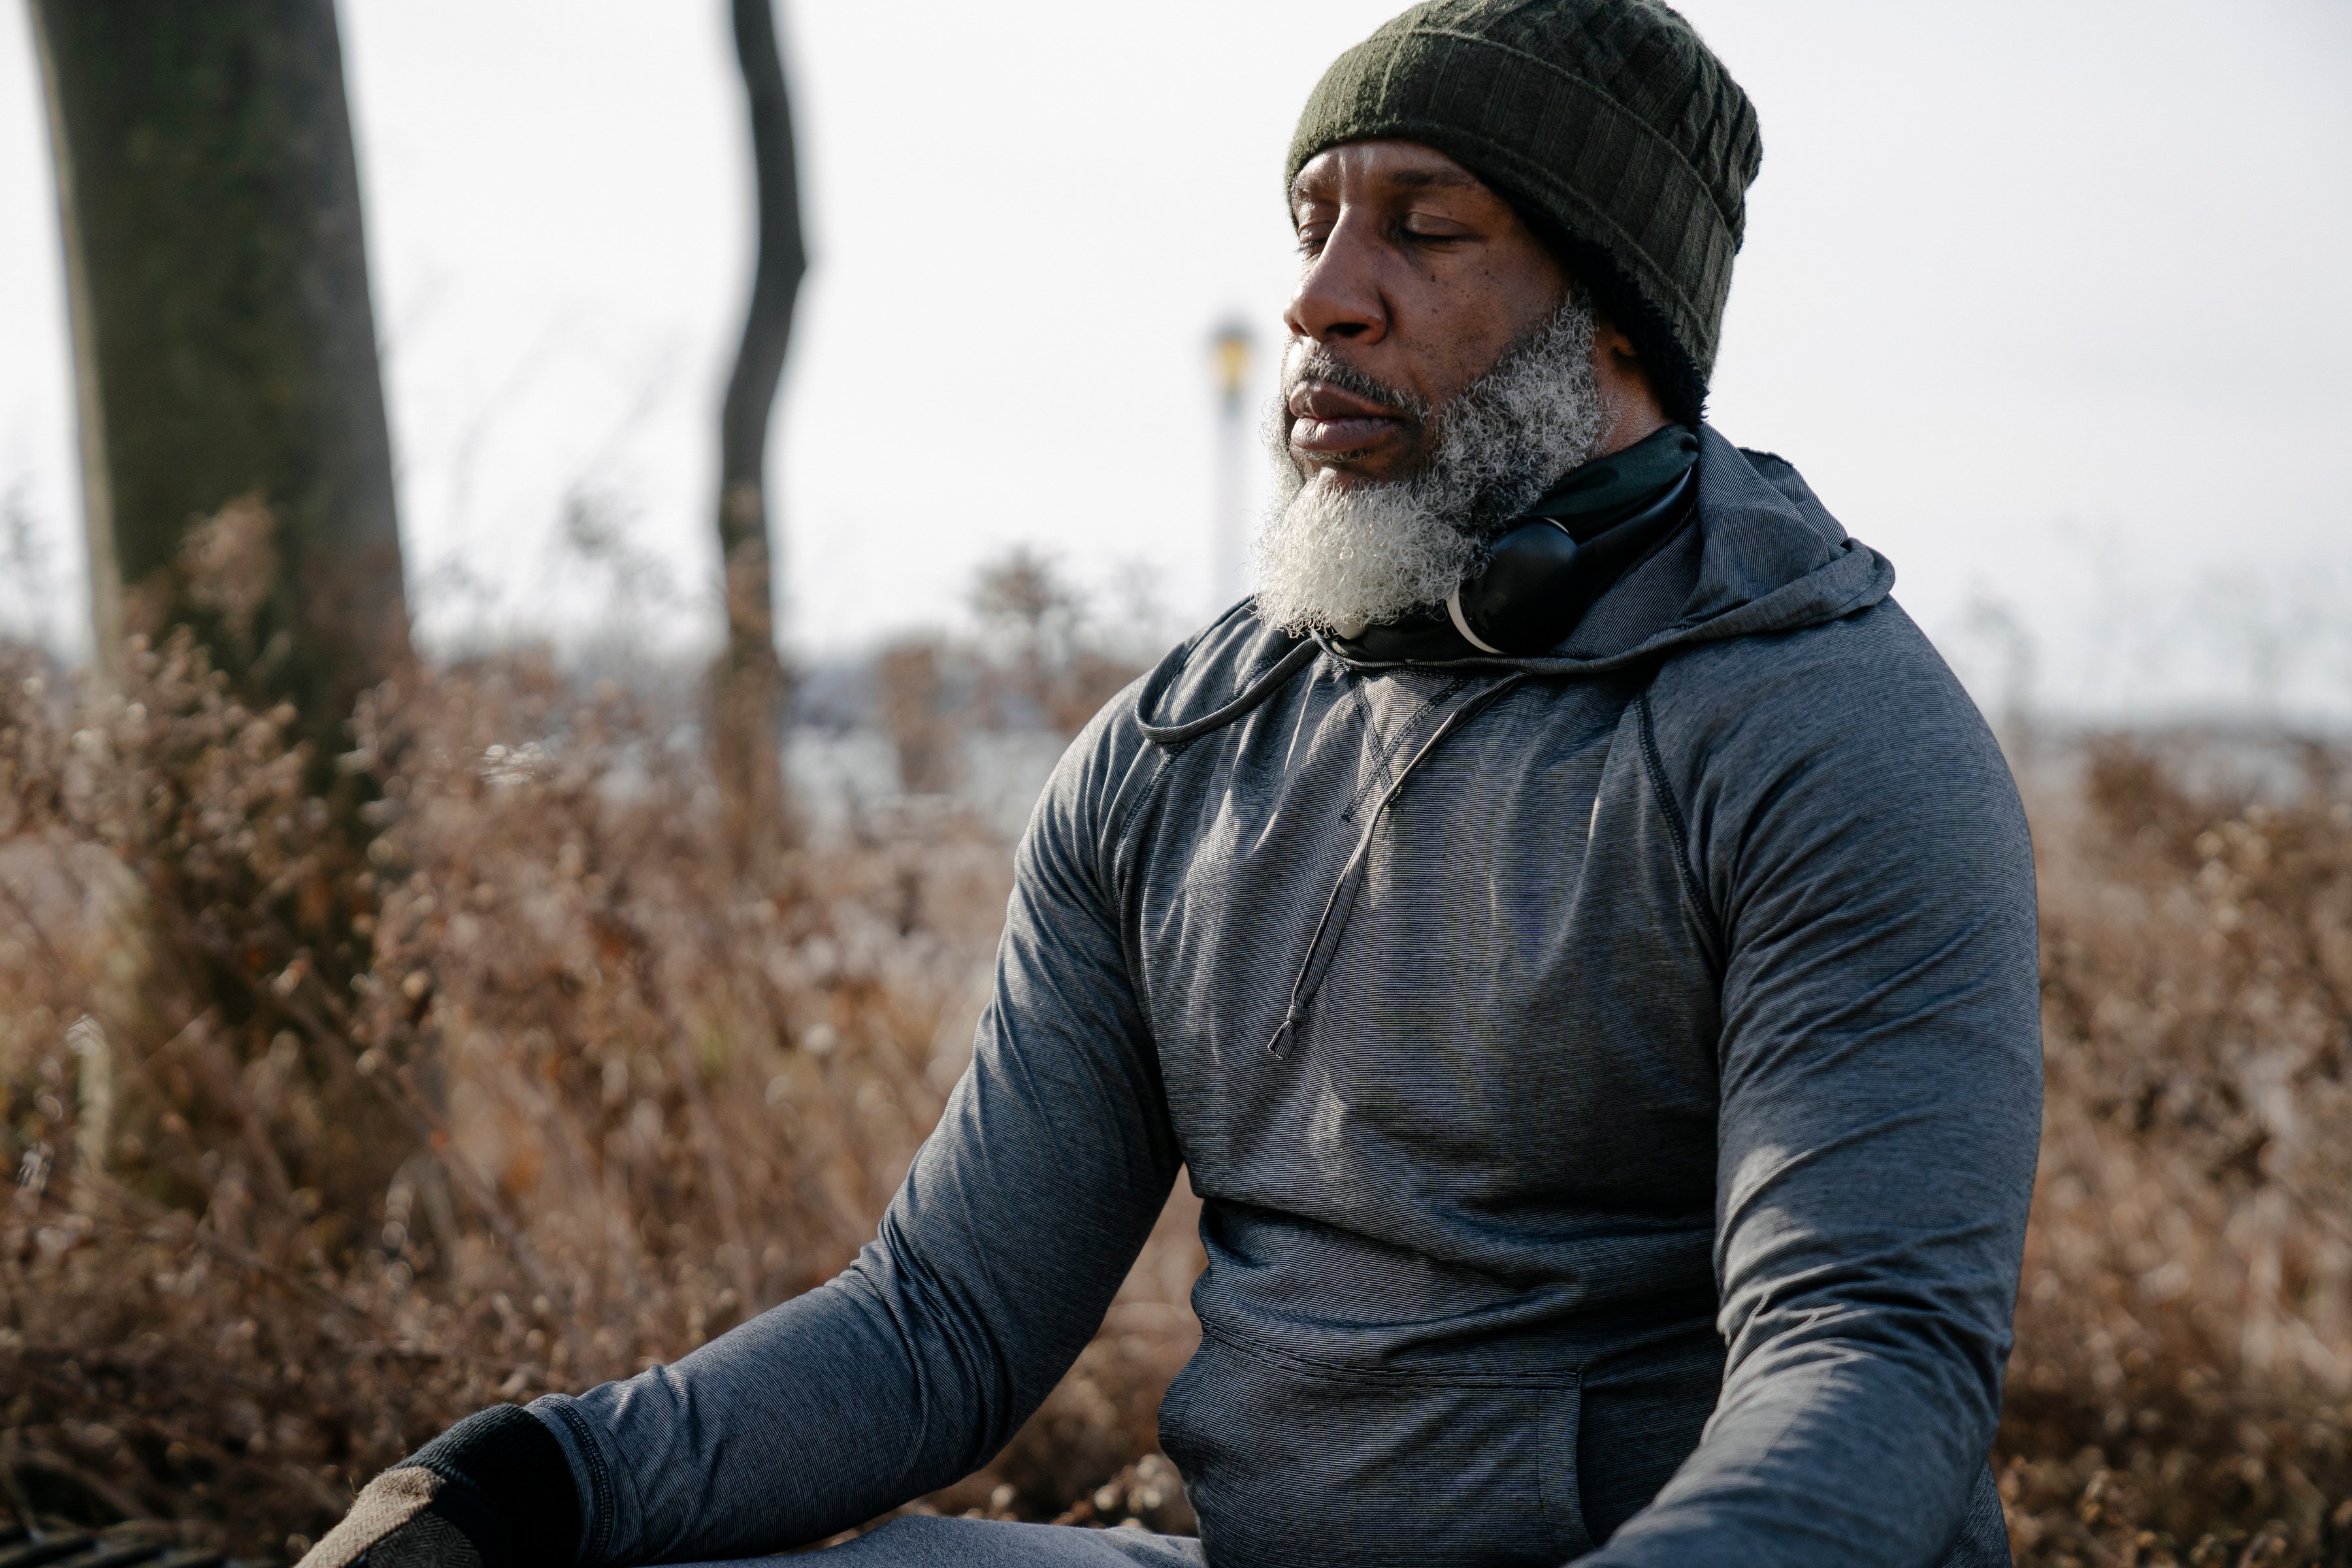
M 1390 1373 L 1209 1331 L 1162 1403 L 1218 1568 L 1557 1568 L 1588 1552 L 1578 1373 Z

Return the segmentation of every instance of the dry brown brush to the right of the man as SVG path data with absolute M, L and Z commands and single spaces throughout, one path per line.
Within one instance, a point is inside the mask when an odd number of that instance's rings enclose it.
M 2110 741 L 2034 799 L 2049 1112 L 2020 1563 L 2352 1556 L 2352 802 Z

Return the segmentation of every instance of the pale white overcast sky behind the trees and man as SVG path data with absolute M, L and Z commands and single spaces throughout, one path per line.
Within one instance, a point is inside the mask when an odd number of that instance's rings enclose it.
M 1011 543 L 1145 585 L 1171 630 L 1207 611 L 1207 334 L 1279 331 L 1282 146 L 1390 9 L 783 0 L 814 252 L 774 447 L 797 651 L 962 616 Z M 706 623 L 748 273 L 724 12 L 343 0 L 428 632 L 593 611 L 567 494 Z M 2352 7 L 1684 12 L 1766 148 L 1715 423 L 1896 559 L 1987 698 L 2027 675 L 2077 710 L 2352 712 Z M 0 609 L 75 635 L 64 336 L 5 5 L 0 491 L 54 541 L 54 583 Z

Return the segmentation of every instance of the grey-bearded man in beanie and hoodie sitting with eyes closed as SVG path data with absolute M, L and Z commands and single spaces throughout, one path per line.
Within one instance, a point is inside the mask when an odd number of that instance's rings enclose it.
M 1258 590 L 1056 771 L 877 1241 L 461 1422 L 313 1561 L 887 1512 L 1011 1436 L 1183 1164 L 1200 1542 L 901 1519 L 844 1568 L 2006 1563 L 2032 858 L 1886 562 L 1698 425 L 1757 160 L 1656 0 L 1345 54 L 1289 158 Z

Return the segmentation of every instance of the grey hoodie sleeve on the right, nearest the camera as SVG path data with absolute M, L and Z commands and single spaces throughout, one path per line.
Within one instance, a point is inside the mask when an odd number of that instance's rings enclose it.
M 1891 604 L 1748 668 L 1649 736 L 1722 943 L 1729 1363 L 1698 1448 L 1583 1561 L 1929 1568 L 1971 1488 L 1990 1507 L 2042 1112 L 2032 846 Z M 1997 1509 L 1969 1530 L 1997 1542 Z

